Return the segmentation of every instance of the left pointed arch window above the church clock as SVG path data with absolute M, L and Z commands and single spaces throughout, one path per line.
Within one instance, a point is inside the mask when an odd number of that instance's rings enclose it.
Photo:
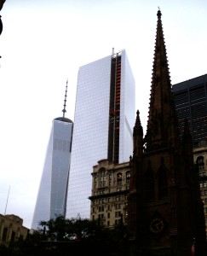
M 145 174 L 145 197 L 146 201 L 154 199 L 154 176 L 152 170 L 147 170 Z

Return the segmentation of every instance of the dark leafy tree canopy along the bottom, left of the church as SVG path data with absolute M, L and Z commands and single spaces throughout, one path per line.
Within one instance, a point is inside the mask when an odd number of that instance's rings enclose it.
M 4 255 L 127 255 L 127 228 L 123 223 L 109 229 L 98 220 L 59 216 L 39 224 L 39 230 L 29 234 L 26 241 L 15 242 Z

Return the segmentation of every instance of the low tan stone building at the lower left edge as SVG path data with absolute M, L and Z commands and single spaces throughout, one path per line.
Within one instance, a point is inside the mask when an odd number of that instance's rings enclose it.
M 28 229 L 23 226 L 23 219 L 14 214 L 0 214 L 0 244 L 8 247 L 10 242 L 25 240 Z

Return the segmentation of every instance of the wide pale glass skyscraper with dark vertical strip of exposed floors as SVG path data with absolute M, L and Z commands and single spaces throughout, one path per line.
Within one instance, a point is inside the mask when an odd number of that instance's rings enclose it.
M 125 50 L 79 68 L 66 217 L 89 218 L 93 166 L 133 153 L 135 80 Z

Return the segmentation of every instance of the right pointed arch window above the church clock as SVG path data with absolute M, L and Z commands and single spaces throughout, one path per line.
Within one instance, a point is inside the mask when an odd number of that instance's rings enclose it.
M 158 171 L 158 199 L 164 199 L 168 196 L 168 176 L 166 169 L 161 168 Z

